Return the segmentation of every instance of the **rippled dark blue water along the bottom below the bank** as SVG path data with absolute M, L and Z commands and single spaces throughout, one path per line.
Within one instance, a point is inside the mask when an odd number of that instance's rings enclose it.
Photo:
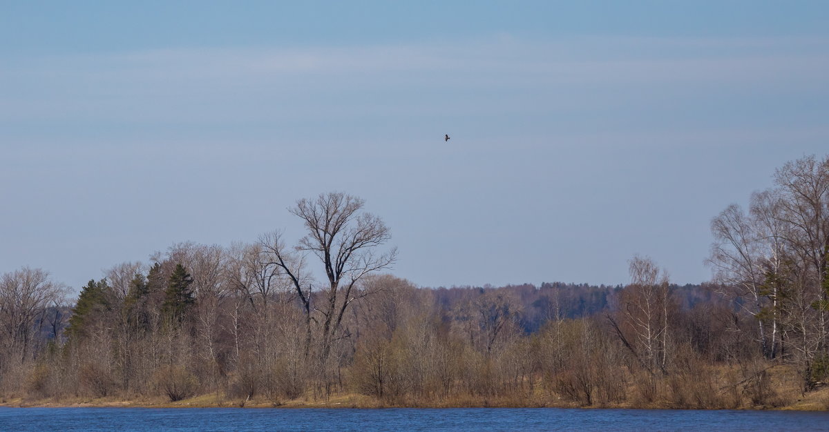
M 2 408 L 0 430 L 829 430 L 829 413 L 452 408 Z

